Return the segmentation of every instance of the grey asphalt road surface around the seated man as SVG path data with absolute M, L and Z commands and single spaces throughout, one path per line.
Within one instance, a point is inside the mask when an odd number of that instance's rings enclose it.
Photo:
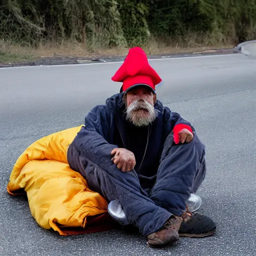
M 6 192 L 17 157 L 49 133 L 80 125 L 118 92 L 120 63 L 0 69 L 0 255 L 254 255 L 256 250 L 256 58 L 204 56 L 150 61 L 158 99 L 192 122 L 206 145 L 200 211 L 216 222 L 206 238 L 162 249 L 124 231 L 59 236 L 42 229 L 22 197 Z

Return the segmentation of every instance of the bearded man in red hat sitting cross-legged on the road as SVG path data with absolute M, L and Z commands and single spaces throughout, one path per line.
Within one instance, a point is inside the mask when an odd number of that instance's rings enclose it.
M 204 145 L 156 99 L 161 78 L 145 52 L 131 48 L 112 80 L 122 82 L 120 93 L 86 115 L 68 147 L 70 167 L 107 201 L 118 200 L 150 246 L 213 234 L 214 222 L 186 207 L 205 176 Z

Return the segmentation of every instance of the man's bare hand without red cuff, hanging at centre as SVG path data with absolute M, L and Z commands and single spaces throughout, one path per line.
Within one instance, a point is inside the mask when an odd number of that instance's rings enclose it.
M 116 147 L 111 151 L 111 154 L 114 154 L 111 160 L 122 172 L 131 171 L 134 168 L 136 161 L 131 151 Z

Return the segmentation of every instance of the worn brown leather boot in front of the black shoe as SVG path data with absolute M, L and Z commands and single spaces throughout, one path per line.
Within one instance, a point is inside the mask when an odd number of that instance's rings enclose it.
M 182 218 L 171 216 L 157 231 L 147 235 L 147 245 L 159 247 L 178 240 L 178 229 Z

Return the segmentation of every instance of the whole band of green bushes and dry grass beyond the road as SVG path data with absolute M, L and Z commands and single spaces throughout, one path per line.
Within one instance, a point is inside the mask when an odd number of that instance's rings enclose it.
M 55 54 L 148 54 L 256 38 L 255 0 L 1 0 L 0 62 Z

